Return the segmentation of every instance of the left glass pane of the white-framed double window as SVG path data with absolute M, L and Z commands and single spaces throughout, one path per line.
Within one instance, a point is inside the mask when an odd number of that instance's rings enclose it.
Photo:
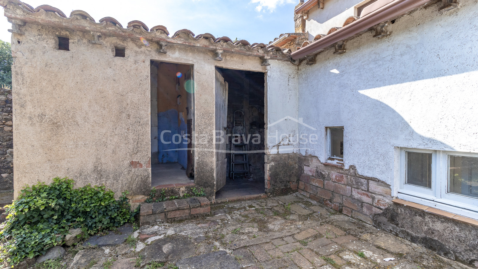
M 423 152 L 406 152 L 406 184 L 432 188 L 432 154 Z

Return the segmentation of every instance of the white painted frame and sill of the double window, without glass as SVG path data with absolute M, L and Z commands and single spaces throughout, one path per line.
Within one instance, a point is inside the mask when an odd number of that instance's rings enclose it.
M 407 165 L 405 151 L 432 153 L 432 190 L 405 184 Z M 400 180 L 397 196 L 406 201 L 423 204 L 478 220 L 477 198 L 447 192 L 449 155 L 478 157 L 478 153 L 401 147 L 399 157 Z

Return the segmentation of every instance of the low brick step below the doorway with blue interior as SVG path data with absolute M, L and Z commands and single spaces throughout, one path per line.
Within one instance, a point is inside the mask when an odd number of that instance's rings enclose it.
M 206 197 L 143 203 L 140 209 L 140 226 L 192 219 L 207 216 L 210 212 L 211 203 Z

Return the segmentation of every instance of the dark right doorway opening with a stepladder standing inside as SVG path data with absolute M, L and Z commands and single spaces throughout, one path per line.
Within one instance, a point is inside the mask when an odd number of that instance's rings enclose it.
M 216 69 L 227 83 L 226 183 L 216 199 L 264 193 L 265 74 Z

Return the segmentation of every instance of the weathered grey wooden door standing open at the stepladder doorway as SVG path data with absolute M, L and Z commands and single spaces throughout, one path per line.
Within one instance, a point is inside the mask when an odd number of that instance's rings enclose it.
M 216 70 L 216 191 L 226 185 L 226 131 L 228 121 L 228 83 Z M 222 133 L 221 133 L 222 132 Z M 222 142 L 222 143 L 219 143 Z

